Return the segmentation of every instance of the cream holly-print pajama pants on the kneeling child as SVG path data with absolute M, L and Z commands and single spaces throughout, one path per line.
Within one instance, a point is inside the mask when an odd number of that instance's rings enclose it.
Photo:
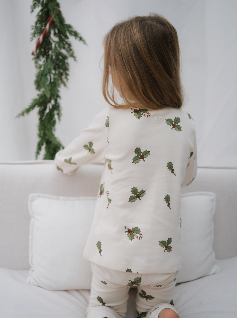
M 138 274 L 112 270 L 91 264 L 93 277 L 86 318 L 125 318 L 128 292 L 137 287 L 138 317 L 157 318 L 164 308 L 173 307 L 172 294 L 177 272 Z

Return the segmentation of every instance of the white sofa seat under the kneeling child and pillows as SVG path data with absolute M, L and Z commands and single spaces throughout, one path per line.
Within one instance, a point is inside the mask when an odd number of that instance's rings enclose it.
M 182 318 L 236 316 L 237 257 L 217 260 L 218 274 L 176 286 L 174 305 Z M 28 271 L 0 268 L 0 308 L 4 318 L 86 318 L 89 290 L 48 291 L 25 283 Z M 136 318 L 131 288 L 127 318 Z

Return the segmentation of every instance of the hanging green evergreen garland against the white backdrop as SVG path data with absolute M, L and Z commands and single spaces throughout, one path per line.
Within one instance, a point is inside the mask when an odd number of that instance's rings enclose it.
M 34 54 L 34 63 L 37 69 L 35 77 L 35 88 L 39 91 L 37 97 L 31 101 L 29 107 L 25 108 L 16 117 L 29 114 L 35 107 L 38 108 L 38 143 L 35 159 L 38 158 L 42 147 L 45 147 L 43 159 L 54 159 L 55 154 L 63 148 L 60 140 L 54 135 L 56 117 L 61 120 L 61 105 L 59 88 L 67 86 L 69 76 L 68 58 L 76 61 L 74 50 L 69 42 L 69 36 L 86 44 L 80 33 L 75 31 L 60 11 L 60 4 L 56 0 L 33 0 L 31 13 L 39 8 L 35 24 L 31 27 L 32 41 L 39 39 L 49 16 L 54 16 L 53 24 L 47 32 L 38 50 Z M 59 12 L 55 15 L 56 9 Z M 36 43 L 36 42 L 35 42 Z

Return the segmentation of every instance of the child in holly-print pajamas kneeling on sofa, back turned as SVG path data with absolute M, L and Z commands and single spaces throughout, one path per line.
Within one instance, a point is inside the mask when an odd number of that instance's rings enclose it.
M 132 286 L 138 317 L 178 318 L 172 293 L 182 266 L 181 186 L 195 178 L 197 163 L 169 21 L 150 14 L 112 28 L 103 95 L 108 107 L 55 156 L 66 174 L 105 160 L 84 250 L 93 272 L 87 318 L 125 317 Z

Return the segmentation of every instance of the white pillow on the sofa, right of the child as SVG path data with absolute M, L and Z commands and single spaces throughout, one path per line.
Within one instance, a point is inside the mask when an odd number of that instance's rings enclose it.
M 176 281 L 182 283 L 219 272 L 213 251 L 215 194 L 190 192 L 181 197 L 181 253 L 183 266 Z

